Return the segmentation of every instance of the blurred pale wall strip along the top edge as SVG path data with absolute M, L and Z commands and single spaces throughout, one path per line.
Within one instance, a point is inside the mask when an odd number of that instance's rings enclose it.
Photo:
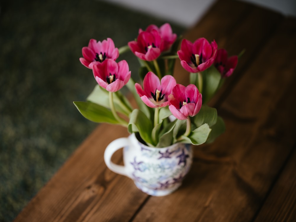
M 186 27 L 194 25 L 215 0 L 100 0 L 109 1 Z M 296 17 L 296 0 L 241 0 Z

